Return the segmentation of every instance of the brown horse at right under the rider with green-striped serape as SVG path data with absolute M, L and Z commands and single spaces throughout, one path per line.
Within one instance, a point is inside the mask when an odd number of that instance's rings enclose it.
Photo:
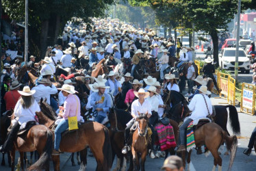
M 190 114 L 190 112 L 186 112 L 183 114 L 183 106 L 181 103 L 177 104 L 179 110 L 175 110 L 176 112 L 172 114 L 172 116 L 176 116 L 175 121 L 178 123 L 181 122 L 185 117 Z M 218 124 L 213 122 L 208 122 L 203 124 L 203 126 L 198 127 L 194 131 L 194 142 L 196 147 L 201 148 L 201 146 L 205 145 L 207 147 L 207 152 L 211 152 L 214 157 L 214 167 L 212 170 L 216 170 L 216 166 L 218 165 L 218 170 L 222 170 L 222 159 L 218 154 L 218 148 L 225 142 L 227 144 L 227 149 L 230 150 L 231 155 L 229 159 L 229 169 L 231 170 L 233 161 L 235 159 L 235 153 L 238 148 L 238 139 L 235 135 L 229 136 L 226 131 L 224 131 Z M 188 162 L 188 170 L 190 170 L 190 156 L 192 150 L 188 152 L 187 162 Z M 181 157 L 183 159 L 183 166 L 185 168 L 185 151 L 181 152 Z

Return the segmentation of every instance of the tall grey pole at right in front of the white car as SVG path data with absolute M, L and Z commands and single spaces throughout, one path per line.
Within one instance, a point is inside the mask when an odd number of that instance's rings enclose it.
M 238 27 L 236 29 L 236 43 L 235 43 L 235 81 L 238 81 L 238 57 L 239 57 L 239 38 L 240 38 L 240 13 L 241 0 L 238 0 Z

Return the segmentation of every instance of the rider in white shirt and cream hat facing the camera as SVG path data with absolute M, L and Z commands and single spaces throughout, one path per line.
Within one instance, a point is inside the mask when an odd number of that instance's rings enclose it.
M 127 151 L 131 149 L 129 146 L 130 129 L 131 126 L 133 126 L 136 118 L 139 116 L 138 112 L 140 112 L 140 114 L 145 114 L 147 112 L 148 117 L 151 117 L 151 104 L 145 99 L 149 96 L 149 92 L 145 92 L 143 88 L 140 88 L 140 90 L 138 92 L 134 92 L 134 94 L 138 97 L 138 99 L 133 101 L 131 104 L 131 116 L 133 119 L 127 123 L 127 127 L 125 129 L 125 146 L 122 150 L 123 154 L 126 154 Z

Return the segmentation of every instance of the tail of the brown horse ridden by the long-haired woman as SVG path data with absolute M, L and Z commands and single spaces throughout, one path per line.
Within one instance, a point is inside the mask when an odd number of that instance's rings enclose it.
M 44 152 L 40 155 L 40 158 L 36 163 L 29 167 L 28 170 L 43 170 L 43 168 L 49 168 L 49 159 L 51 158 L 51 152 L 53 150 L 53 133 L 47 130 L 47 142 L 44 146 Z

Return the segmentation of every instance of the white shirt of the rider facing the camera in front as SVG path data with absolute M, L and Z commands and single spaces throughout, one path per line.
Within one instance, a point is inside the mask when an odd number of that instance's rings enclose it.
M 133 101 L 133 103 L 131 103 L 131 114 L 139 116 L 138 111 L 140 112 L 140 114 L 146 114 L 146 112 L 148 112 L 148 114 L 151 114 L 151 104 L 149 103 L 149 101 L 145 99 L 142 105 L 140 105 L 139 99 Z

